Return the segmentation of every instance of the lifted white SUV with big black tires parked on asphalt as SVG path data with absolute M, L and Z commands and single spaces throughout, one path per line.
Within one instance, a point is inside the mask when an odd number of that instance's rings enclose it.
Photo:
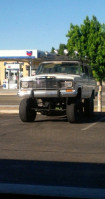
M 50 115 L 62 111 L 69 122 L 79 122 L 82 112 L 94 112 L 96 81 L 90 66 L 81 61 L 42 62 L 34 77 L 20 81 L 18 95 L 24 97 L 19 106 L 23 122 L 32 122 L 36 113 Z

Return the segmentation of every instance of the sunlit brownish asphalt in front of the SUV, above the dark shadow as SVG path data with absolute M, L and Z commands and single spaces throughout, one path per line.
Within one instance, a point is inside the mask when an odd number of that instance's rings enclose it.
M 4 140 L 9 158 L 105 163 L 104 132 L 104 112 L 83 116 L 77 124 L 69 123 L 66 116 L 38 114 L 34 122 L 23 123 L 18 114 L 0 114 L 1 148 Z M 1 150 L 0 157 L 6 158 L 6 152 Z

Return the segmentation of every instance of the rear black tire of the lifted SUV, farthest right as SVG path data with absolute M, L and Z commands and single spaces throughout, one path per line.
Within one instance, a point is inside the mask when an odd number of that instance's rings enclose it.
M 86 116 L 92 116 L 94 113 L 94 100 L 93 98 L 88 98 L 84 100 L 84 113 Z

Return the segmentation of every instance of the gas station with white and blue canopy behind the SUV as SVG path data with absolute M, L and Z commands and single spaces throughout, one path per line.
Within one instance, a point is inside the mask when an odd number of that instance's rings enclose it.
M 0 85 L 17 89 L 21 77 L 35 75 L 44 56 L 40 50 L 0 50 Z

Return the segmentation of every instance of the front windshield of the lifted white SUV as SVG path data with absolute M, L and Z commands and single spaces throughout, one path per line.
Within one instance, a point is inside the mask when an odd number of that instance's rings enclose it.
M 52 74 L 52 73 L 66 73 L 66 74 L 80 74 L 80 67 L 76 63 L 44 63 L 40 64 L 36 74 Z

